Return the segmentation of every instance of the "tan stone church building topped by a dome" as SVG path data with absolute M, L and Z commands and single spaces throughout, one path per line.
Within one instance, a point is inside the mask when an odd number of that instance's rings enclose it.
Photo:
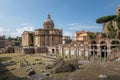
M 22 34 L 23 47 L 48 48 L 62 44 L 62 30 L 55 29 L 55 25 L 50 15 L 43 23 L 42 29 L 36 29 L 34 32 L 24 31 Z

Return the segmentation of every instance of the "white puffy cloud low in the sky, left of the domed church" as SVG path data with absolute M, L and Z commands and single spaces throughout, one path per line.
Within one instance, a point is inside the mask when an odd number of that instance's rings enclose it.
M 24 31 L 33 31 L 34 27 L 30 25 L 21 25 L 20 28 L 16 28 L 14 31 L 11 29 L 6 29 L 4 27 L 0 27 L 0 34 L 5 35 L 6 37 L 17 37 L 21 36 Z

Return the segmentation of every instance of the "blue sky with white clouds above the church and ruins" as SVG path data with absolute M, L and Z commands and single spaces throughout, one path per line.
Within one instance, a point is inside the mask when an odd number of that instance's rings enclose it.
M 0 35 L 16 37 L 43 28 L 49 13 L 65 36 L 82 30 L 102 32 L 96 19 L 116 14 L 118 6 L 120 0 L 0 0 Z

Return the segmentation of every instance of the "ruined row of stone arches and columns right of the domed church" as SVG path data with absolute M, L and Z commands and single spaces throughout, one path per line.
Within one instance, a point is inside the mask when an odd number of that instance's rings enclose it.
M 114 50 L 116 52 L 114 53 Z M 74 41 L 71 44 L 59 45 L 58 54 L 68 56 L 68 58 L 88 59 L 88 60 L 108 60 L 111 57 L 120 57 L 119 39 L 98 39 L 90 41 Z

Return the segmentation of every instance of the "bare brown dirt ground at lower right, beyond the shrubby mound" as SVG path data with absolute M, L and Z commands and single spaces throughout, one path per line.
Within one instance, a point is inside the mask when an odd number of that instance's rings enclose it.
M 107 79 L 101 79 L 100 75 L 106 75 Z M 81 64 L 80 69 L 75 72 L 51 80 L 120 80 L 120 63 L 90 62 Z

